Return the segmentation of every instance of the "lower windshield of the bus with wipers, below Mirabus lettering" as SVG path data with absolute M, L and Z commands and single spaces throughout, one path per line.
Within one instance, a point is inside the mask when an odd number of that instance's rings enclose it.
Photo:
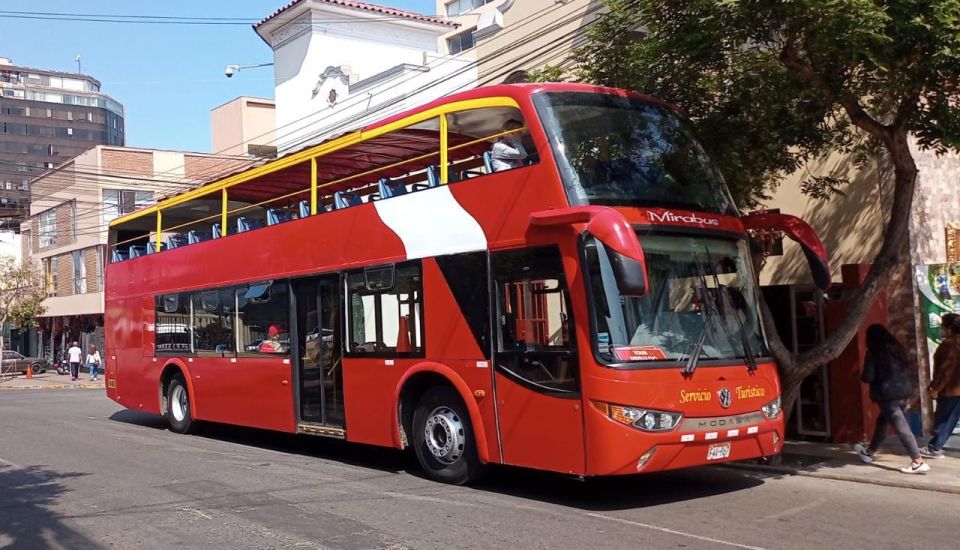
M 768 355 L 746 241 L 675 235 L 640 239 L 649 291 L 624 296 L 611 251 L 585 241 L 600 359 L 632 361 L 744 360 Z M 615 254 L 615 253 L 612 253 Z

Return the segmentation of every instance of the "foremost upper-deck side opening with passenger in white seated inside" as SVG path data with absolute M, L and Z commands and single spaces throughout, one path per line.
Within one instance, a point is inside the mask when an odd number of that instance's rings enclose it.
M 523 114 L 487 107 L 447 115 L 449 181 L 521 168 L 539 161 Z

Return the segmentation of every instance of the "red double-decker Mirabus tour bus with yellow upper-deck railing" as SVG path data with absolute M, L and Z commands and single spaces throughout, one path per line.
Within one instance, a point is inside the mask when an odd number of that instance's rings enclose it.
M 621 90 L 446 97 L 110 225 L 108 395 L 487 464 L 619 475 L 773 455 L 748 228 L 675 109 Z

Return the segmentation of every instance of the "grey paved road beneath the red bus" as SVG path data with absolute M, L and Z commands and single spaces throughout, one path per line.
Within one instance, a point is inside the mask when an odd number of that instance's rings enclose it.
M 180 436 L 94 390 L 0 391 L 0 548 L 937 548 L 960 497 L 724 468 L 476 487 L 405 455 L 224 426 Z M 948 542 L 949 541 L 949 542 Z

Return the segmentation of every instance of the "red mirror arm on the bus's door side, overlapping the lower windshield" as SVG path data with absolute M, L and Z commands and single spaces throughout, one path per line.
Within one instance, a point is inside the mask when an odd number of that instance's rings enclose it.
M 583 231 L 606 247 L 620 293 L 643 296 L 647 293 L 647 269 L 637 233 L 623 214 L 605 206 L 572 206 L 530 214 L 534 227 L 585 224 Z

